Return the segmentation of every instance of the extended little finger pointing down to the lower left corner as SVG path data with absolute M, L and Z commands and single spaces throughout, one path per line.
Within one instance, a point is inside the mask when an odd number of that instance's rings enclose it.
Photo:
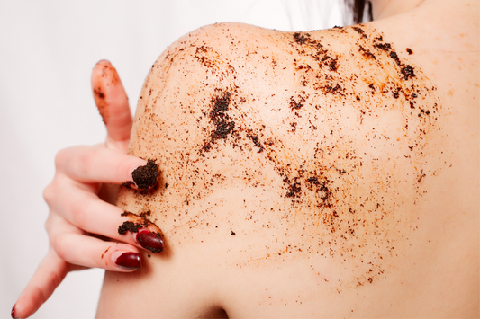
M 67 276 L 68 263 L 50 249 L 14 306 L 12 317 L 33 315 Z

